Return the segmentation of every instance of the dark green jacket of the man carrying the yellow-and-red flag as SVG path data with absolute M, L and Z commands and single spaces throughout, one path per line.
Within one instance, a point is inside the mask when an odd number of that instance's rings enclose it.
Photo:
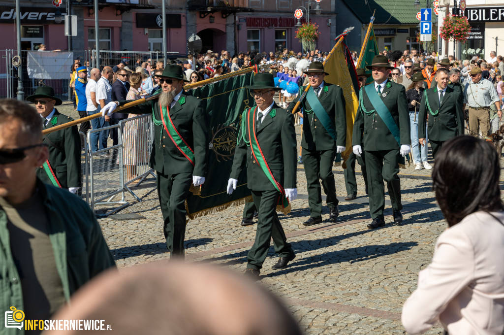
M 301 93 L 306 86 L 299 88 L 297 98 L 289 104 L 287 108 L 290 113 L 294 109 L 295 104 L 301 97 Z M 312 89 L 312 88 L 310 88 Z M 335 150 L 336 145 L 346 145 L 346 111 L 345 97 L 343 90 L 338 85 L 333 85 L 324 82 L 324 88 L 320 92 L 319 101 L 333 121 L 334 129 L 336 129 L 336 141 L 329 135 L 326 128 L 322 125 L 319 119 L 313 114 L 307 114 L 306 110 L 312 109 L 306 98 L 304 98 L 301 106 L 304 109 L 303 120 L 303 136 L 301 138 L 301 147 L 308 150 Z

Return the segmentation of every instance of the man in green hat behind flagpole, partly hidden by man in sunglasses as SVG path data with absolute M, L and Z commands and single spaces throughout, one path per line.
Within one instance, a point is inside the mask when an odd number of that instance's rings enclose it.
M 35 104 L 44 129 L 74 121 L 54 108 L 61 104 L 61 100 L 54 96 L 54 89 L 50 86 L 38 87 L 35 94 L 26 99 Z M 49 158 L 37 169 L 37 177 L 46 184 L 76 193 L 82 185 L 81 139 L 77 126 L 44 135 L 44 143 L 49 148 Z

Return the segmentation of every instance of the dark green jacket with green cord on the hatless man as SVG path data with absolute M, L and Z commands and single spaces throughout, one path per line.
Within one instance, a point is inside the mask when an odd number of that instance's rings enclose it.
M 436 117 L 430 115 L 426 99 L 423 97 L 420 113 L 418 113 L 418 134 L 425 134 L 425 120 L 428 115 L 427 136 L 429 140 L 446 141 L 454 136 L 463 135 L 464 114 L 460 92 L 447 87 L 441 107 L 439 107 L 437 85 L 426 89 L 423 94 L 427 94 L 432 112 L 435 113 L 436 110 L 439 110 L 439 114 Z

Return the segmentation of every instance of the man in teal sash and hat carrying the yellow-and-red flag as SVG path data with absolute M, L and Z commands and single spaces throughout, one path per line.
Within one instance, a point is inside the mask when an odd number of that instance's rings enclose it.
M 311 226 L 322 222 L 322 191 L 319 179 L 322 180 L 327 196 L 329 220 L 334 222 L 339 215 L 332 169 L 336 153 L 345 151 L 346 113 L 343 90 L 338 85 L 324 81 L 328 73 L 324 71 L 321 62 L 312 62 L 304 73 L 311 87 L 301 102 L 304 110 L 301 156 L 310 207 L 310 217 L 303 225 Z M 289 104 L 287 110 L 291 113 L 305 88 L 306 86 L 299 88 L 298 97 Z

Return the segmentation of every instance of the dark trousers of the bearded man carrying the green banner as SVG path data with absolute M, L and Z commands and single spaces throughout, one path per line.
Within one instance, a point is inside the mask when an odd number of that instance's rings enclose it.
M 164 219 L 163 231 L 170 257 L 184 256 L 185 199 L 192 182 L 192 173 L 157 173 L 159 204 Z

